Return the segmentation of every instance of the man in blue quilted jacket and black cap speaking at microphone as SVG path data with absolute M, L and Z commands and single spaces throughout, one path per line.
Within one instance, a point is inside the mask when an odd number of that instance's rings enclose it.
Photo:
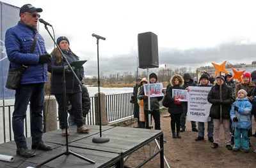
M 20 8 L 20 21 L 6 31 L 5 46 L 10 66 L 24 72 L 20 87 L 15 92 L 15 104 L 12 117 L 14 140 L 17 155 L 33 157 L 35 153 L 29 150 L 24 136 L 24 118 L 30 101 L 32 149 L 52 150 L 52 147 L 42 140 L 42 110 L 44 109 L 44 83 L 48 82 L 47 64 L 51 62 L 51 55 L 45 49 L 42 36 L 36 27 L 39 12 L 42 8 L 35 8 L 31 4 L 24 4 Z M 36 40 L 35 50 L 31 46 Z M 30 52 L 29 52 L 30 51 Z

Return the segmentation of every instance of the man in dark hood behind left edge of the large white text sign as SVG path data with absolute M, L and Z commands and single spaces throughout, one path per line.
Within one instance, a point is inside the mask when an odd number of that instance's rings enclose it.
M 196 83 L 194 82 L 194 80 L 192 79 L 189 73 L 184 74 L 183 78 L 184 78 L 184 85 L 183 85 L 184 89 L 188 89 L 188 87 L 196 87 Z M 180 132 L 184 132 L 186 129 L 186 116 L 188 113 L 188 102 L 184 102 L 183 106 L 184 106 L 183 108 L 184 111 L 180 118 Z M 191 125 L 192 125 L 192 131 L 198 132 L 198 129 L 196 129 L 196 122 L 191 121 Z

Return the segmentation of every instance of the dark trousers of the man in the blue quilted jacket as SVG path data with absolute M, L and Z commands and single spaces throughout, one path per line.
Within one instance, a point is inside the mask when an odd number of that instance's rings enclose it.
M 24 118 L 30 101 L 30 128 L 32 143 L 42 141 L 42 110 L 44 109 L 44 83 L 20 85 L 15 92 L 15 104 L 12 115 L 12 129 L 17 148 L 26 147 L 24 136 Z

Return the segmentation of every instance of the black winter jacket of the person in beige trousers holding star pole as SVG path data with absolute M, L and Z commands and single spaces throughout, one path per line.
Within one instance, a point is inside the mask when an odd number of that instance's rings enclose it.
M 222 104 L 222 119 L 229 119 L 231 104 L 233 102 L 232 88 L 223 83 L 221 85 L 221 90 L 222 103 L 220 101 L 220 85 L 214 85 L 208 94 L 208 102 L 212 104 L 210 116 L 214 119 L 220 119 L 220 105 Z

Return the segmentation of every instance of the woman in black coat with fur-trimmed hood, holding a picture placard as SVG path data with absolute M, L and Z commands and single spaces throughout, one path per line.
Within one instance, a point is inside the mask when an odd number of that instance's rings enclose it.
M 175 74 L 172 76 L 170 80 L 171 86 L 168 87 L 166 92 L 167 99 L 171 102 L 168 112 L 171 115 L 171 129 L 172 129 L 172 137 L 173 138 L 181 138 L 180 136 L 180 116 L 183 113 L 183 106 L 177 99 L 173 99 L 172 90 L 173 89 L 180 89 L 184 90 L 182 87 L 184 85 L 184 79 L 179 74 Z M 175 124 L 177 134 L 175 133 Z

